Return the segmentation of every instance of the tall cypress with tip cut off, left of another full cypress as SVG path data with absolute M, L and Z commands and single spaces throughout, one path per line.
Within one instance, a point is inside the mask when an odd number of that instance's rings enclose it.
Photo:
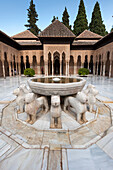
M 75 33 L 75 35 L 79 35 L 85 29 L 88 29 L 88 21 L 87 21 L 84 1 L 80 0 L 78 14 L 73 26 L 73 32 Z

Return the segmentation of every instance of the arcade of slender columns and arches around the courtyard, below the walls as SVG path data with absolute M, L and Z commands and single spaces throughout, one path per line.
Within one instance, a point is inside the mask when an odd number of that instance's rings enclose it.
M 11 55 L 0 51 L 0 77 L 21 75 L 24 69 L 33 68 L 36 74 L 44 75 L 73 75 L 77 74 L 79 68 L 88 68 L 91 74 L 113 77 L 113 59 L 112 53 L 99 54 L 93 57 L 91 55 L 88 61 L 88 55 L 84 56 L 84 63 L 81 62 L 81 55 L 78 55 L 77 62 L 74 62 L 74 57 L 62 54 L 48 53 L 48 58 L 44 60 L 43 56 L 33 55 L 32 59 L 28 55 L 20 56 L 18 54 Z M 19 56 L 19 57 L 18 57 Z M 31 57 L 31 56 L 30 56 Z M 83 56 L 82 56 L 83 57 Z M 82 58 L 83 61 L 83 58 Z

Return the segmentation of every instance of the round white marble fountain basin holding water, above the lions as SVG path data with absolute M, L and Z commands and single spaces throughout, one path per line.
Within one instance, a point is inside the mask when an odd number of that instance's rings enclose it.
M 32 92 L 44 96 L 51 95 L 74 95 L 81 91 L 86 80 L 81 77 L 45 76 L 35 77 L 28 80 Z

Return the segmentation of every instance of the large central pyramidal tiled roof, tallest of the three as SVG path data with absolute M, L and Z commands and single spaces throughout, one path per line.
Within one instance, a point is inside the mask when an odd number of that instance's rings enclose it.
M 38 37 L 72 37 L 75 35 L 59 20 L 55 20 L 47 28 L 45 28 Z

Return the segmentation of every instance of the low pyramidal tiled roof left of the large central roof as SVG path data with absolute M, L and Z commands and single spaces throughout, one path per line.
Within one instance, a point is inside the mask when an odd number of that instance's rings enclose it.
M 26 31 L 23 31 L 23 32 L 21 32 L 19 34 L 16 34 L 16 35 L 12 36 L 11 38 L 14 38 L 14 39 L 16 39 L 16 38 L 19 38 L 19 39 L 21 39 L 21 38 L 27 38 L 27 39 L 35 38 L 36 39 L 38 37 L 35 36 L 31 31 L 26 30 Z

